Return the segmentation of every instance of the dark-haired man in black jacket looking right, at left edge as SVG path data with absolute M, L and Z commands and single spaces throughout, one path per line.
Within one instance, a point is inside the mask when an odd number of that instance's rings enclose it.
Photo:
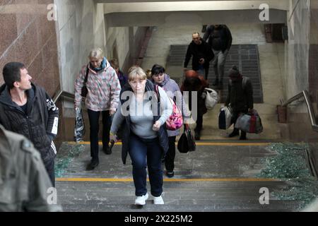
M 5 84 L 0 88 L 0 124 L 33 142 L 54 186 L 54 157 L 57 150 L 59 109 L 43 88 L 31 83 L 25 66 L 11 62 L 4 66 Z

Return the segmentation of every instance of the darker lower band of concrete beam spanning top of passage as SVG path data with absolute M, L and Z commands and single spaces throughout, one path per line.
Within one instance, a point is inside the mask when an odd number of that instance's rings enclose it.
M 109 13 L 105 19 L 109 27 L 286 22 L 286 11 L 273 9 L 269 14 L 268 21 L 259 20 L 258 10 Z

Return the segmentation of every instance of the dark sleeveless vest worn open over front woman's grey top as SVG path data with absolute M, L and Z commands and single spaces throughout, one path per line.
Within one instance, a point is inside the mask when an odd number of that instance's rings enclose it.
M 133 92 L 129 83 L 126 83 L 126 85 L 124 85 L 124 88 L 122 88 L 122 91 L 120 92 L 120 101 L 122 102 L 122 106 L 124 106 L 124 102 L 128 101 L 130 98 L 130 97 L 127 97 L 126 100 L 122 100 L 122 93 L 124 93 L 125 91 L 131 91 L 131 93 Z M 154 91 L 153 83 L 151 83 L 151 81 L 149 80 L 147 80 L 146 82 L 145 92 L 148 92 L 148 91 Z M 151 96 L 150 98 L 155 98 L 155 97 Z M 160 106 L 158 106 L 158 109 L 160 109 Z M 153 116 L 153 123 L 155 123 L 155 121 L 158 121 L 158 119 L 160 119 L 160 115 Z M 124 123 L 124 129 L 122 134 L 122 162 L 126 164 L 126 157 L 130 147 L 129 145 L 130 116 L 125 117 L 125 120 L 123 123 Z M 167 153 L 167 150 L 169 149 L 169 141 L 168 141 L 167 129 L 165 128 L 165 124 L 163 124 L 163 126 L 160 126 L 160 129 L 158 131 L 158 138 L 159 138 L 160 147 L 161 147 L 161 150 L 163 150 L 163 156 L 164 156 Z

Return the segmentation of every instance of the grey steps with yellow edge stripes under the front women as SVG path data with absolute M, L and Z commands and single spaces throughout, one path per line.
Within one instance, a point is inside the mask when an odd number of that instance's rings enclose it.
M 204 211 L 296 211 L 298 201 L 278 201 L 271 192 L 285 189 L 287 182 L 258 178 L 261 157 L 275 155 L 267 143 L 197 143 L 197 150 L 177 151 L 175 177 L 164 176 L 165 205 L 149 199 L 142 208 L 134 206 L 134 182 L 130 160 L 121 162 L 121 145 L 112 155 L 100 153 L 100 165 L 86 171 L 89 145 L 73 158 L 66 172 L 57 178 L 58 201 L 64 211 L 107 212 L 204 212 Z M 63 153 L 59 153 L 63 157 Z M 163 166 L 164 167 L 164 166 Z M 269 205 L 261 205 L 261 188 L 269 189 Z

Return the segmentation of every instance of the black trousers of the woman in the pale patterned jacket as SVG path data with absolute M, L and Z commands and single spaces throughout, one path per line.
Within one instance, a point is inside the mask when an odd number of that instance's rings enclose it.
M 100 129 L 100 112 L 94 112 L 88 109 L 88 119 L 90 121 L 90 157 L 98 160 L 98 131 Z M 102 148 L 105 149 L 110 142 L 110 126 L 112 120 L 110 111 L 102 112 Z

